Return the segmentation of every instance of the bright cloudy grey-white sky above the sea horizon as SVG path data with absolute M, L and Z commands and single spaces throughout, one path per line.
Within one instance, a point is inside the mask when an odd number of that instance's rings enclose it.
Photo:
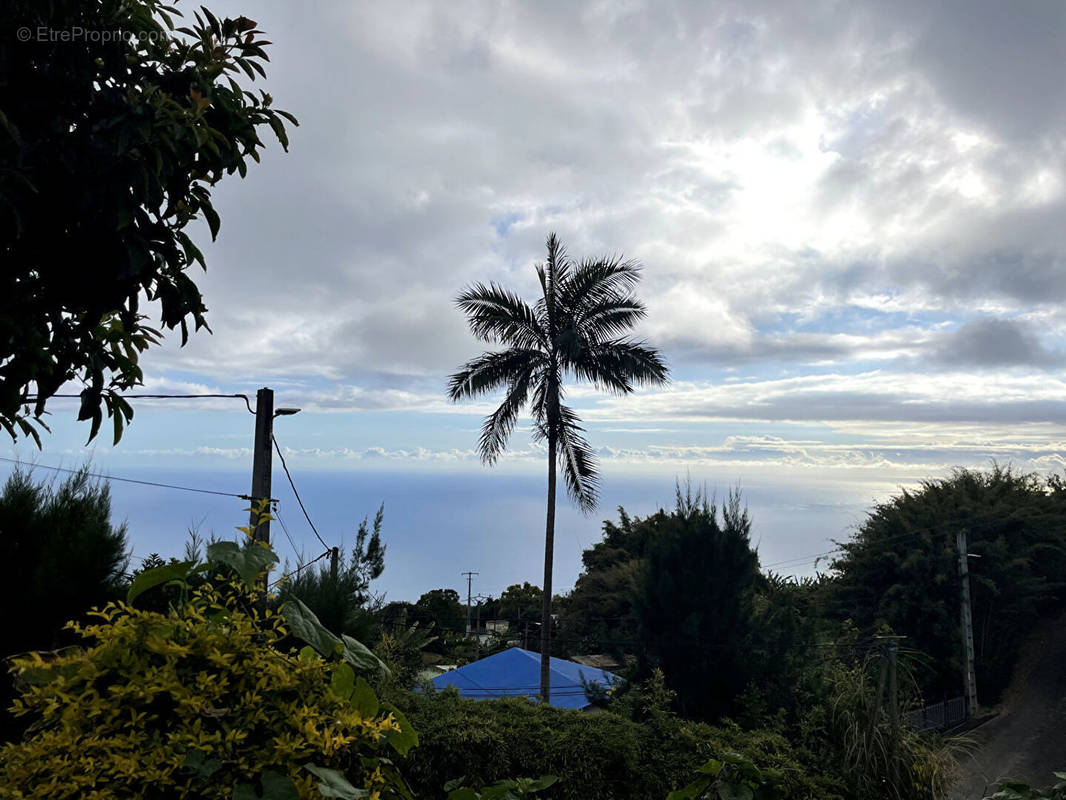
M 214 336 L 146 368 L 288 383 L 308 411 L 484 413 L 443 400 L 479 349 L 451 299 L 534 294 L 558 229 L 645 263 L 640 333 L 678 379 L 576 390 L 589 420 L 1057 425 L 1066 19 L 1027 9 L 263 5 L 302 125 L 217 190 Z

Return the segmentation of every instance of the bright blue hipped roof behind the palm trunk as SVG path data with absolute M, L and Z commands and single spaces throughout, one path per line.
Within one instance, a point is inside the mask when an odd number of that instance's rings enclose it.
M 482 658 L 433 678 L 438 689 L 454 686 L 464 698 L 491 700 L 498 698 L 536 698 L 540 693 L 540 654 L 521 647 Z M 551 698 L 558 708 L 587 708 L 585 685 L 597 684 L 603 689 L 623 683 L 612 672 L 595 667 L 551 659 Z

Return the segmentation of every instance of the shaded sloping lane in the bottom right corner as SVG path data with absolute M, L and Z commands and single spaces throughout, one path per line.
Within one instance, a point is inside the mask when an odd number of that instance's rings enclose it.
M 1000 715 L 969 734 L 979 747 L 963 756 L 952 800 L 981 800 L 1005 778 L 1047 786 L 1066 770 L 1066 615 L 1040 624 L 1022 652 Z

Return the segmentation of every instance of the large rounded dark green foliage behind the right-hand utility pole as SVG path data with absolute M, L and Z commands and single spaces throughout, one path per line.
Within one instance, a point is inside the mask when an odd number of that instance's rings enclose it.
M 881 503 L 834 562 L 838 618 L 928 656 L 926 697 L 960 693 L 958 554 L 968 531 L 978 692 L 994 702 L 1043 612 L 1066 607 L 1066 487 L 1008 467 L 956 470 Z

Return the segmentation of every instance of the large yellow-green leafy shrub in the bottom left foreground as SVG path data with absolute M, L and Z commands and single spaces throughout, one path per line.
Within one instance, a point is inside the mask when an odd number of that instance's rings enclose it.
M 166 613 L 110 604 L 97 624 L 70 625 L 83 650 L 17 659 L 13 711 L 34 722 L 0 749 L 0 795 L 228 799 L 261 784 L 322 797 L 308 764 L 375 800 L 403 794 L 378 757 L 398 718 L 344 661 L 282 650 L 285 621 L 256 610 L 253 590 L 213 583 Z

